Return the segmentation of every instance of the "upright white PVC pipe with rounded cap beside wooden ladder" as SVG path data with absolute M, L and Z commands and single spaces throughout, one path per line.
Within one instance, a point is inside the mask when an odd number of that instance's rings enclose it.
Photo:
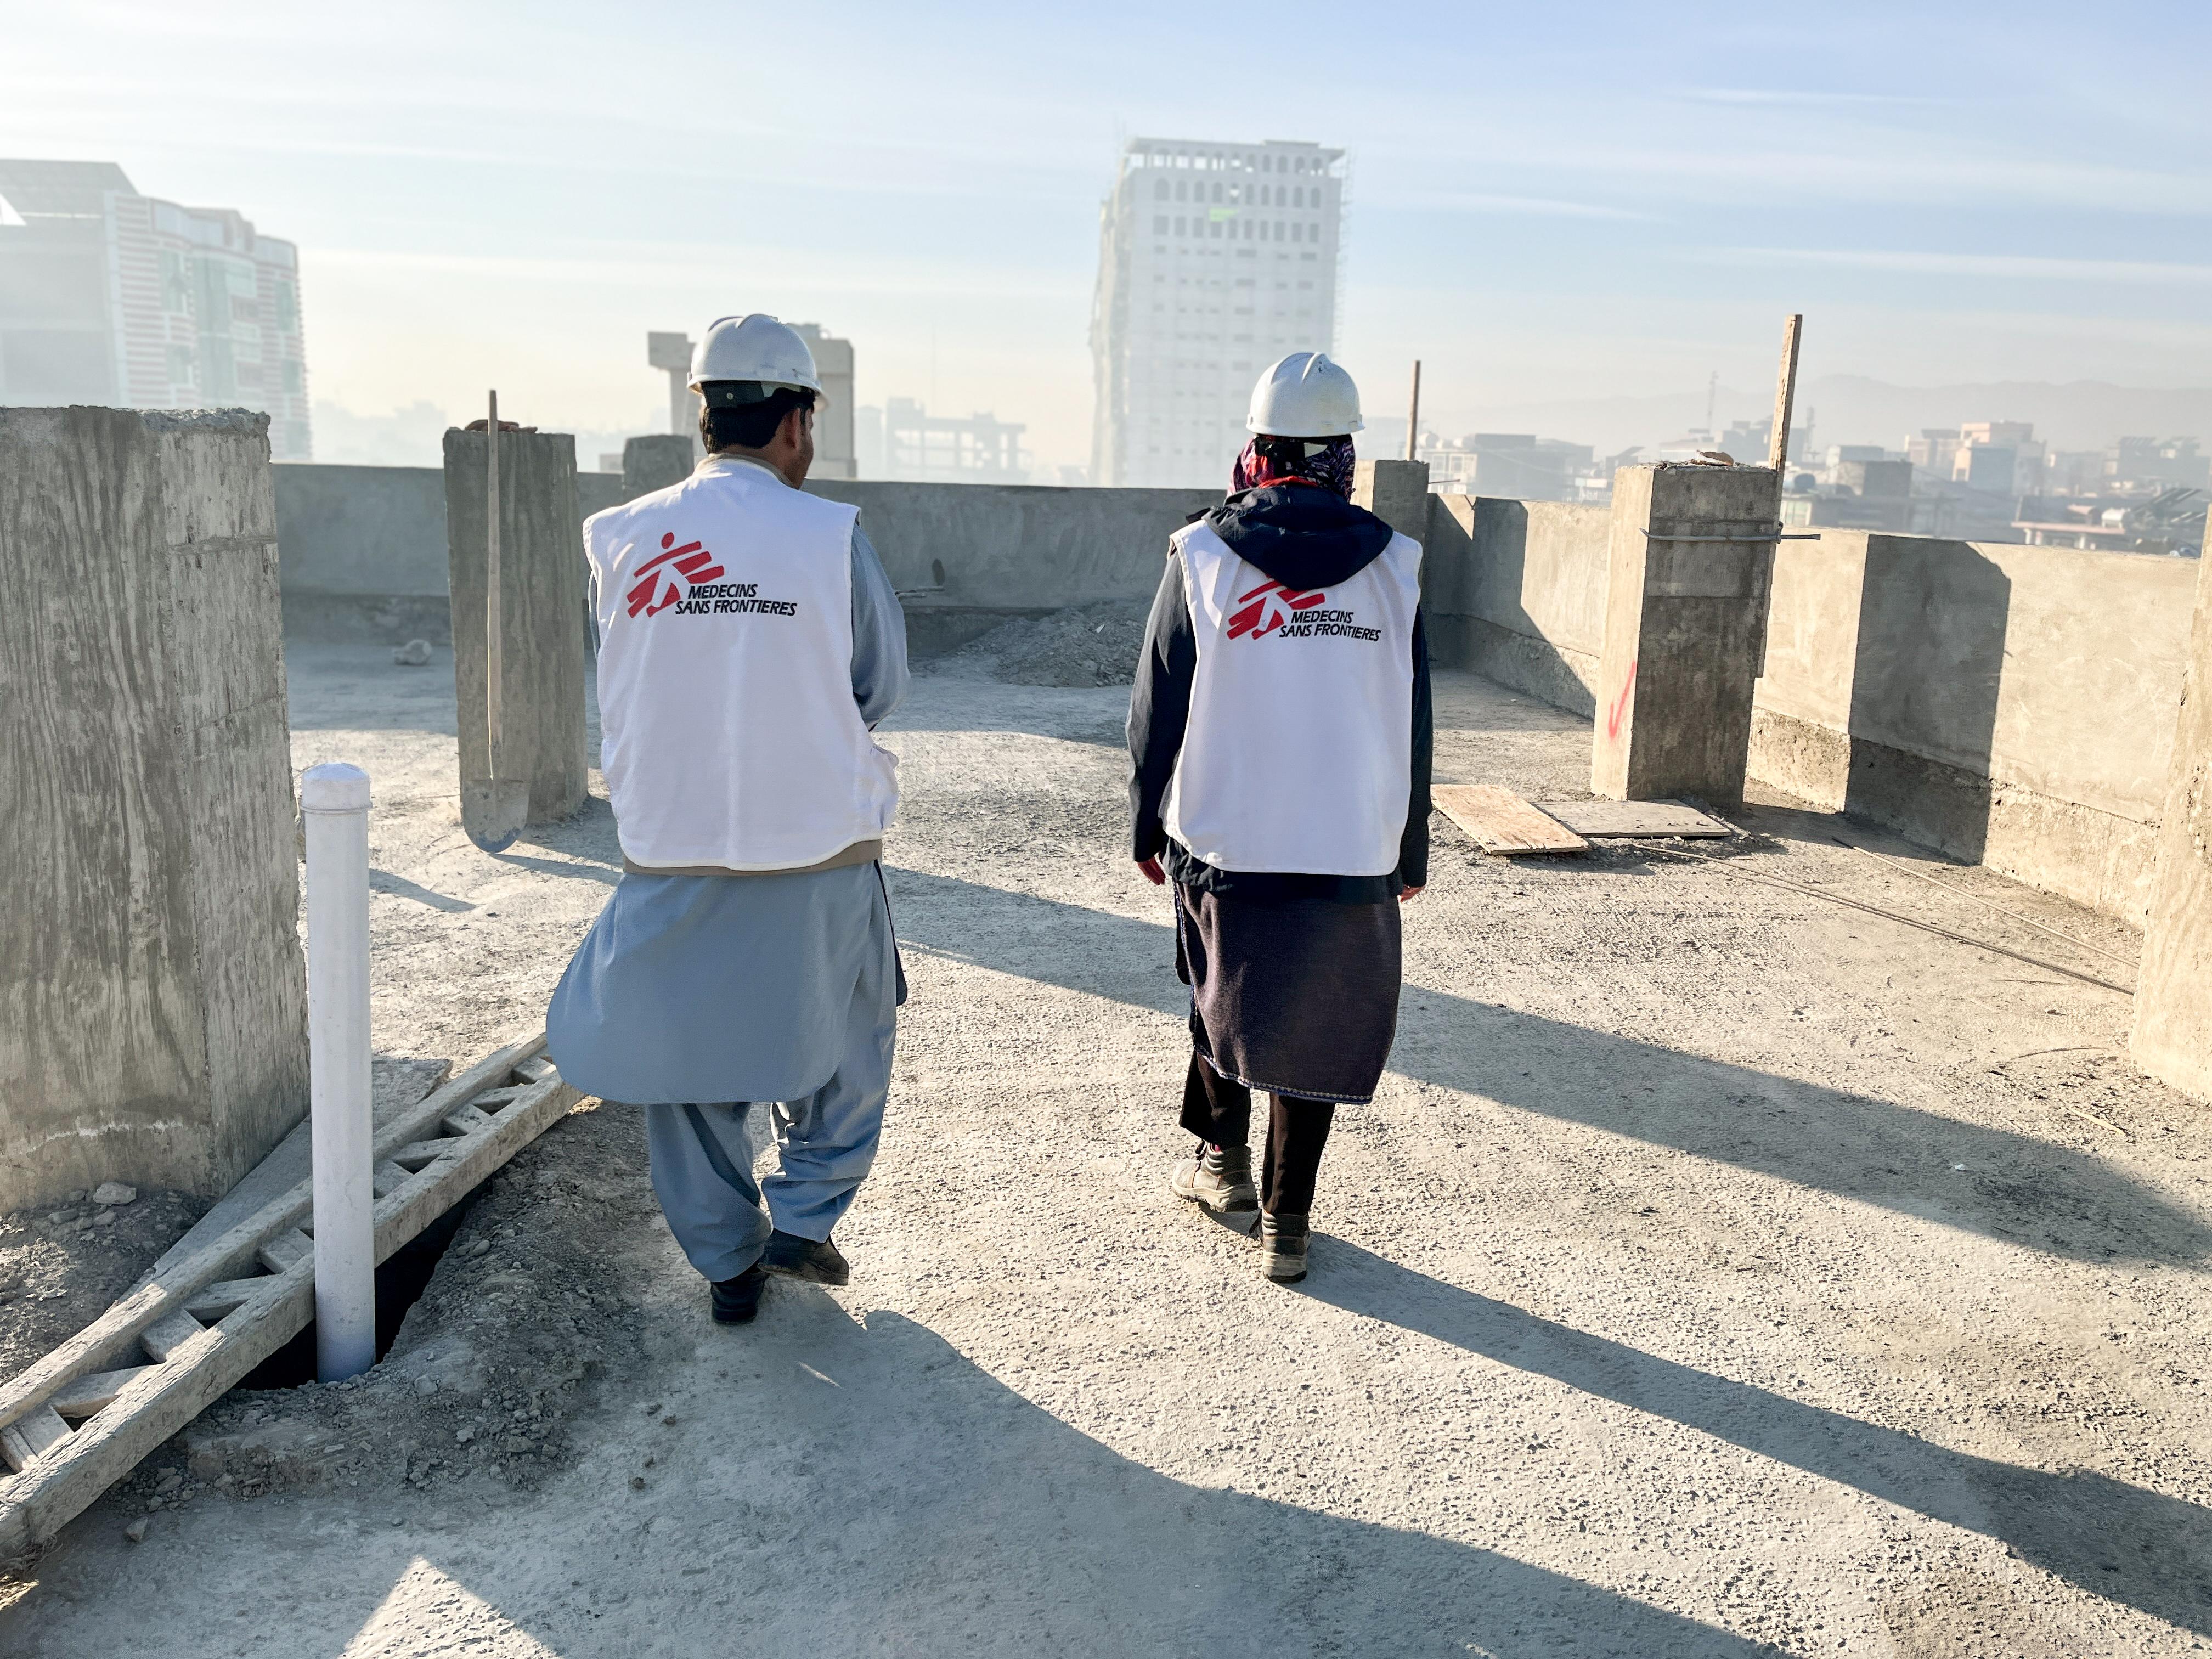
M 307 1068 L 314 1137 L 314 1374 L 376 1363 L 376 1197 L 369 1186 L 369 774 L 314 765 L 307 821 Z

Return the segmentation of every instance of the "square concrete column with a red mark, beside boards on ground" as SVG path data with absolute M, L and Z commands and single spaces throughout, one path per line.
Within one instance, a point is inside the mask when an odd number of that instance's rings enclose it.
M 1590 794 L 1743 799 L 1781 520 L 1770 467 L 1621 467 Z

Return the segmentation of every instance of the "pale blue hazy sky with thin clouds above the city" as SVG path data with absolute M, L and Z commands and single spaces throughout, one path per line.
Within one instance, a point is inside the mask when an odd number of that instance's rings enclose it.
M 768 310 L 1084 460 L 1133 135 L 1345 146 L 1338 354 L 1447 427 L 1765 387 L 1785 310 L 1814 376 L 2212 380 L 2212 9 L 1759 11 L 0 0 L 0 153 L 299 241 L 361 414 L 641 429 L 646 330 Z

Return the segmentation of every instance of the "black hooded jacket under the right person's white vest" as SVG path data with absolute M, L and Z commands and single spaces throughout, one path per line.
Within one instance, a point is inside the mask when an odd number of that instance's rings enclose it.
M 1327 588 L 1365 571 L 1389 546 L 1391 529 L 1365 507 L 1312 484 L 1267 484 L 1230 495 L 1206 515 L 1208 526 L 1248 564 L 1287 588 Z M 1389 876 L 1307 876 L 1296 872 L 1237 872 L 1201 863 L 1168 838 L 1161 807 L 1175 757 L 1183 750 L 1190 721 L 1190 681 L 1199 666 L 1199 641 L 1183 591 L 1183 560 L 1168 553 L 1168 568 L 1152 597 L 1152 619 L 1137 659 L 1137 684 L 1128 699 L 1128 754 L 1133 772 L 1128 805 L 1135 858 L 1161 856 L 1168 874 L 1186 887 L 1252 898 L 1338 898 L 1371 905 L 1396 898 L 1402 887 L 1429 885 L 1429 759 L 1433 721 L 1429 712 L 1429 641 L 1420 611 L 1413 611 L 1413 787 L 1405 805 L 1398 869 Z

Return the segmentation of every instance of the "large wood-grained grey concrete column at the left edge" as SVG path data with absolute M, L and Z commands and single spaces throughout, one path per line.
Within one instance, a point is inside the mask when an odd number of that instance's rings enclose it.
M 0 1210 L 307 1110 L 268 416 L 0 409 Z

